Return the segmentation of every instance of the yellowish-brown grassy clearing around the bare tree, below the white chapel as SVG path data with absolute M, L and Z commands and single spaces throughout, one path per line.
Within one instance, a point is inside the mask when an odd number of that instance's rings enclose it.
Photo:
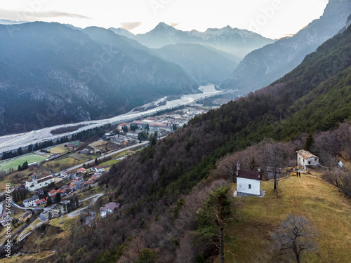
M 235 198 L 239 222 L 232 224 L 228 233 L 237 240 L 225 250 L 237 255 L 236 262 L 296 262 L 293 254 L 274 255 L 272 251 L 270 234 L 289 214 L 307 217 L 317 230 L 317 251 L 303 251 L 301 262 L 351 262 L 350 198 L 316 171 L 281 180 L 278 197 L 272 183 L 262 183 L 263 198 Z M 232 256 L 226 257 L 231 262 Z

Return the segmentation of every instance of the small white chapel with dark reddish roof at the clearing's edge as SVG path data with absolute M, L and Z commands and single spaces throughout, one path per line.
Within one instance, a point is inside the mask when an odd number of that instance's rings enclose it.
M 237 163 L 237 196 L 260 196 L 262 172 L 260 170 L 240 170 Z

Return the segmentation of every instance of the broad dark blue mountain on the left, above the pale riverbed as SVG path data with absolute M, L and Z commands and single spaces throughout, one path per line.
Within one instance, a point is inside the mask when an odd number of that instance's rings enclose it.
M 4 25 L 0 32 L 0 134 L 115 116 L 157 97 L 197 92 L 178 65 L 112 32 L 114 46 L 57 23 Z

